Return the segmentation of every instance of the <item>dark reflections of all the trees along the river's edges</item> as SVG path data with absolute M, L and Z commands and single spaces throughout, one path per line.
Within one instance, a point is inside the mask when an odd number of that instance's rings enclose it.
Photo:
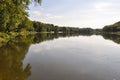
M 81 34 L 91 36 L 92 34 Z M 17 36 L 0 46 L 0 80 L 27 80 L 32 74 L 31 64 L 23 67 L 28 49 L 31 44 L 41 43 L 46 40 L 53 40 L 59 37 L 79 36 L 79 34 L 35 34 Z M 120 44 L 120 36 L 103 34 L 105 39 L 110 39 Z

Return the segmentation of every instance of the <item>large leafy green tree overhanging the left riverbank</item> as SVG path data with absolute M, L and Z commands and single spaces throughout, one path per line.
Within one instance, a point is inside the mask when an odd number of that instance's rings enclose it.
M 41 3 L 41 0 L 0 0 L 0 31 L 16 30 L 28 16 L 26 10 L 31 2 Z

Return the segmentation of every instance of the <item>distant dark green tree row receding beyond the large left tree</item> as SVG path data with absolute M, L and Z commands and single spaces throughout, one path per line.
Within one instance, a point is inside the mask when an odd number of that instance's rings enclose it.
M 33 21 L 33 27 L 36 32 L 50 32 L 50 33 L 94 33 L 91 28 L 76 28 L 76 27 L 61 27 L 53 24 L 46 24 L 37 21 Z

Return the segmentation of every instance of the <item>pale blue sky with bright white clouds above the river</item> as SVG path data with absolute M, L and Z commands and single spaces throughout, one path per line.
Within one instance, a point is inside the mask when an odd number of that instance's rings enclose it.
M 120 20 L 120 0 L 42 0 L 29 9 L 31 20 L 58 26 L 103 28 Z

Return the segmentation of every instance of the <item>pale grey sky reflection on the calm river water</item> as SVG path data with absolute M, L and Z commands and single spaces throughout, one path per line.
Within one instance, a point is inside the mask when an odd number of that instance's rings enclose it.
M 50 40 L 55 35 L 49 36 Z M 32 66 L 28 80 L 119 80 L 120 47 L 116 45 L 86 34 L 31 45 L 24 61 Z

